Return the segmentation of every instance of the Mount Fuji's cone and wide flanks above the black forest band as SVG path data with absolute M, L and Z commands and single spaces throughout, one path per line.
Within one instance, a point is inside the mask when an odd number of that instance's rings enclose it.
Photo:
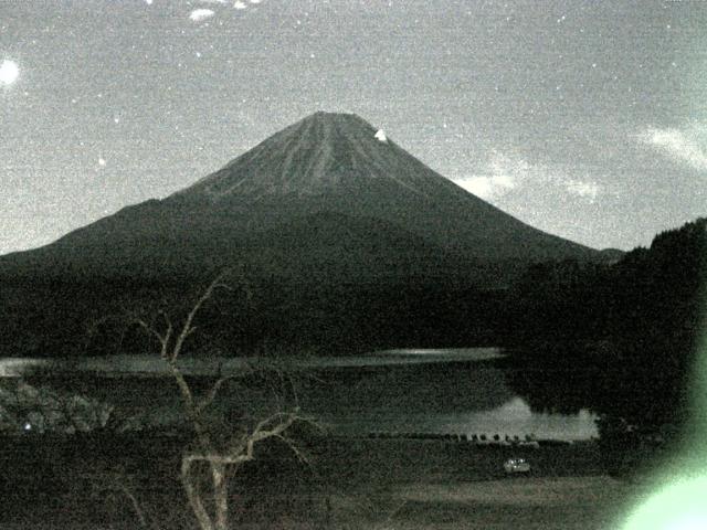
M 457 187 L 381 132 L 356 115 L 316 113 L 184 190 L 0 264 L 152 276 L 245 261 L 277 276 L 357 280 L 601 258 Z

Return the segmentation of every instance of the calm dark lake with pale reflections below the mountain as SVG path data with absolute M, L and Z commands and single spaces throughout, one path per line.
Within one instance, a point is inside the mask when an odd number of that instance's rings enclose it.
M 338 434 L 440 433 L 499 434 L 538 438 L 588 439 L 597 436 L 594 416 L 531 411 L 509 385 L 508 368 L 497 348 L 399 349 L 346 358 L 289 359 L 297 373 L 287 382 L 308 414 Z M 196 375 L 238 372 L 244 359 L 186 360 Z M 126 414 L 169 423 L 177 417 L 178 394 L 156 356 L 114 356 L 78 361 L 1 359 L 0 377 L 30 377 L 38 369 L 71 371 L 42 377 L 44 384 L 88 394 L 116 404 Z M 98 375 L 98 377 L 96 377 Z M 262 389 L 224 388 L 222 406 L 266 409 Z M 144 404 L 149 403 L 149 407 Z

